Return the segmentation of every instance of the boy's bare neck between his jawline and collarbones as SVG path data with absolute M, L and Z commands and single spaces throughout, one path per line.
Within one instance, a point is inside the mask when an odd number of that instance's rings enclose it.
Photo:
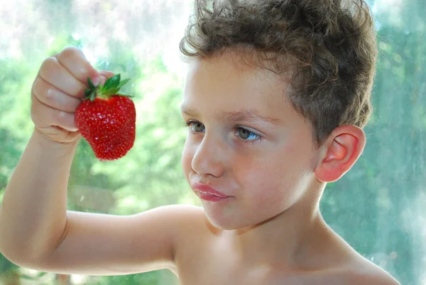
M 320 197 L 300 200 L 259 225 L 225 230 L 222 237 L 231 242 L 231 250 L 248 267 L 271 264 L 287 268 L 310 267 L 305 259 L 318 248 L 325 247 L 333 236 L 320 214 L 319 200 Z

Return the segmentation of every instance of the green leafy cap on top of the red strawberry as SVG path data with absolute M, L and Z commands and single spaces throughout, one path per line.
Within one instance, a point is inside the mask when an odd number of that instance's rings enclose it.
M 121 80 L 120 74 L 114 75 L 113 77 L 109 77 L 107 81 L 105 81 L 104 86 L 98 85 L 94 86 L 92 80 L 87 77 L 87 83 L 89 84 L 89 88 L 84 90 L 84 100 L 94 101 L 95 98 L 99 97 L 102 99 L 108 100 L 113 96 L 124 96 L 124 97 L 133 97 L 127 93 L 120 92 L 120 88 L 129 82 L 130 79 Z

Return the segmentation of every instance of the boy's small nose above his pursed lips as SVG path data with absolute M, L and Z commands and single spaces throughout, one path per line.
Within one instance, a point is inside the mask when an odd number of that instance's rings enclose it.
M 221 141 L 205 135 L 192 157 L 192 170 L 200 175 L 222 176 L 226 159 L 224 147 Z

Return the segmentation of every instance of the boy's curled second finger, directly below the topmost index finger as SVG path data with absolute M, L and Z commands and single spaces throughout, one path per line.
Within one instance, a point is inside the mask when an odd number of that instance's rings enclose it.
M 87 86 L 77 80 L 55 57 L 44 60 L 38 74 L 45 82 L 67 95 L 77 98 L 84 96 Z

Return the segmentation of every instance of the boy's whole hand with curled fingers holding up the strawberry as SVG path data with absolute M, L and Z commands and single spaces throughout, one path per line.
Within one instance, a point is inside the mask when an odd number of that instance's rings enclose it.
M 74 112 L 88 87 L 87 77 L 98 85 L 112 75 L 112 72 L 97 72 L 78 48 L 65 48 L 44 60 L 31 90 L 35 130 L 58 143 L 80 139 Z

